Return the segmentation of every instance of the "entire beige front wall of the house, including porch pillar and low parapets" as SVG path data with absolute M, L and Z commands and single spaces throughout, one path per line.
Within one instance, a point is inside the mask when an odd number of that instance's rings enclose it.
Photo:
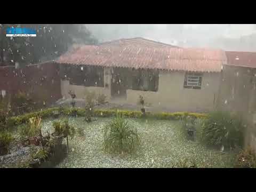
M 160 71 L 158 91 L 134 91 L 127 90 L 126 99 L 111 100 L 111 73 L 109 68 L 104 69 L 105 87 L 85 87 L 70 85 L 69 81 L 61 81 L 61 93 L 65 98 L 70 98 L 69 90 L 75 91 L 77 98 L 84 98 L 86 91 L 106 94 L 107 100 L 114 103 L 127 103 L 136 105 L 139 95 L 145 97 L 146 106 L 154 108 L 166 108 L 170 111 L 211 111 L 217 102 L 217 94 L 220 83 L 220 73 L 203 73 L 202 88 L 183 89 L 185 72 Z

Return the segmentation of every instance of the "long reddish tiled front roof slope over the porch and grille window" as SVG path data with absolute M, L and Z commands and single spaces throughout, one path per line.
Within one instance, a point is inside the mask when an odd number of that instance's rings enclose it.
M 221 50 L 193 48 L 84 45 L 61 55 L 57 62 L 105 67 L 219 72 L 221 65 L 226 64 L 226 55 Z

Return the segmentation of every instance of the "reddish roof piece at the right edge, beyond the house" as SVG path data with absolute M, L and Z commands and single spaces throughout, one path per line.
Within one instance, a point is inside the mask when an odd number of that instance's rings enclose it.
M 256 68 L 256 52 L 226 51 L 227 65 Z

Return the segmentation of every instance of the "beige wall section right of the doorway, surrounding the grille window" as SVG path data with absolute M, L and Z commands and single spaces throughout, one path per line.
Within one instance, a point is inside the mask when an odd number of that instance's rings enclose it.
M 146 103 L 156 108 L 169 108 L 173 111 L 213 110 L 217 101 L 220 73 L 203 73 L 201 90 L 183 89 L 184 78 L 185 72 L 161 71 L 157 92 L 127 90 L 127 103 L 137 102 L 139 95 L 142 95 Z

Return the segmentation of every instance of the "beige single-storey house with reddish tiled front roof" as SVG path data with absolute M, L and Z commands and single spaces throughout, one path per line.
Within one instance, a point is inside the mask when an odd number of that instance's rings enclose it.
M 143 95 L 147 106 L 161 110 L 216 107 L 222 65 L 227 64 L 224 51 L 117 42 L 75 47 L 61 55 L 57 62 L 63 97 L 74 90 L 77 98 L 84 98 L 88 90 L 131 105 Z

